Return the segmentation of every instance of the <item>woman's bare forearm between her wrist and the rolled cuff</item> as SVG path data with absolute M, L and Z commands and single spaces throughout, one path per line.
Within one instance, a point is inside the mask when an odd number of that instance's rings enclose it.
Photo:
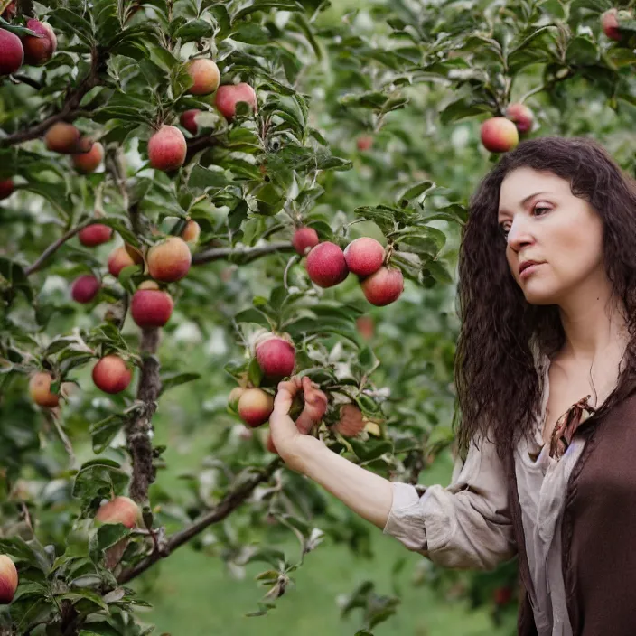
M 333 453 L 310 436 L 304 437 L 295 466 L 295 470 L 319 483 L 360 517 L 378 528 L 386 526 L 393 485 L 384 477 Z

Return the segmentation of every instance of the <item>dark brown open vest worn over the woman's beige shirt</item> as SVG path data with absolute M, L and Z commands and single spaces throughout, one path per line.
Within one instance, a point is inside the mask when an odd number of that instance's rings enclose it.
M 636 634 L 636 394 L 604 416 L 591 416 L 576 435 L 585 448 L 567 482 L 562 524 L 563 575 L 574 636 Z M 519 491 L 510 454 L 510 516 L 519 575 L 531 589 Z M 537 628 L 524 594 L 519 636 Z

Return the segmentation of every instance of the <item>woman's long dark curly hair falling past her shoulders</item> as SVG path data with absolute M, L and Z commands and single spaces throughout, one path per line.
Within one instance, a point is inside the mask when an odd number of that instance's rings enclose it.
M 459 411 L 457 443 L 465 454 L 477 436 L 500 457 L 529 434 L 541 410 L 543 379 L 533 351 L 549 355 L 565 342 L 558 307 L 529 304 L 510 272 L 497 223 L 500 186 L 511 171 L 529 167 L 570 182 L 603 220 L 603 256 L 614 298 L 625 313 L 630 341 L 616 388 L 597 408 L 601 417 L 627 397 L 636 380 L 636 182 L 591 139 L 541 137 L 504 154 L 474 193 L 462 230 L 458 302 L 461 331 L 454 378 Z M 622 305 L 621 305 L 622 301 Z

